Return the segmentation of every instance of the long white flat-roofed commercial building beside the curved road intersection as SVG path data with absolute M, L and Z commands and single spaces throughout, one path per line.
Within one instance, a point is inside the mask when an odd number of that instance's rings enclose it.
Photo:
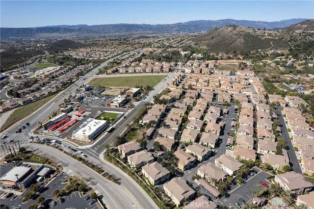
M 73 131 L 72 137 L 83 141 L 93 140 L 104 131 L 107 126 L 107 121 L 91 118 L 83 127 Z

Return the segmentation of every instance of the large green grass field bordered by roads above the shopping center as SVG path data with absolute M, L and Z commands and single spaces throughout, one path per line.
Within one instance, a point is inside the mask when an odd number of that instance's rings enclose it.
M 95 78 L 88 85 L 94 87 L 129 87 L 134 88 L 136 85 L 146 87 L 147 85 L 155 87 L 159 82 L 167 76 L 130 76 L 130 77 L 112 77 L 112 78 Z

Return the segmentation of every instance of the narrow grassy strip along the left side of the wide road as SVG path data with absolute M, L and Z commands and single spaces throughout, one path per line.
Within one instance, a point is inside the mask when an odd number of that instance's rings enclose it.
M 26 118 L 28 115 L 35 112 L 37 109 L 39 109 L 42 105 L 48 103 L 55 95 L 52 95 L 50 97 L 47 97 L 45 99 L 33 102 L 31 104 L 26 104 L 22 106 L 21 108 L 16 109 L 9 118 L 5 121 L 3 126 L 1 127 L 1 131 L 4 131 L 5 129 L 9 128 L 16 122 L 22 120 L 23 118 Z M 24 124 L 23 124 L 24 125 Z

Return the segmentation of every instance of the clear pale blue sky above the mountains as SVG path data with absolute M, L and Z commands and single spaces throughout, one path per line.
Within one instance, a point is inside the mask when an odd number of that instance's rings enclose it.
M 0 27 L 314 19 L 314 0 L 0 0 Z

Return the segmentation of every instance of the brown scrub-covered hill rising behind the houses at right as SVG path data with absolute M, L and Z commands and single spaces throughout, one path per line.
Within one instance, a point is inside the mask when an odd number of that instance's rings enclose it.
M 275 32 L 244 26 L 214 28 L 195 37 L 194 41 L 212 52 L 253 51 L 257 49 L 288 49 L 288 42 L 271 35 Z

